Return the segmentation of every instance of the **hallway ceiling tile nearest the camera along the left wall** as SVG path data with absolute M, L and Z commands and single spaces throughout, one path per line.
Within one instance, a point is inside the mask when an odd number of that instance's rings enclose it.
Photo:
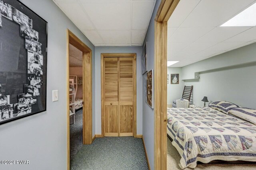
M 80 30 L 92 30 L 94 26 L 86 16 L 81 6 L 73 1 L 57 1 L 61 10 L 72 20 Z

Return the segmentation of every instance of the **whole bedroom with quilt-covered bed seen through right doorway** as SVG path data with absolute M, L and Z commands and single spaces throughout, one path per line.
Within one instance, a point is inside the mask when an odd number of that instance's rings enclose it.
M 168 20 L 167 169 L 255 168 L 255 9 L 180 0 Z

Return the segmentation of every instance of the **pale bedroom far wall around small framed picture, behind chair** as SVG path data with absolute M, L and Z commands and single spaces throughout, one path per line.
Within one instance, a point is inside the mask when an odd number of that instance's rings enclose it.
M 169 74 L 169 84 L 167 84 L 167 104 L 171 105 L 173 100 L 177 100 L 182 97 L 184 81 L 182 80 L 181 67 L 168 67 L 167 74 Z M 179 74 L 179 84 L 171 84 L 171 74 Z

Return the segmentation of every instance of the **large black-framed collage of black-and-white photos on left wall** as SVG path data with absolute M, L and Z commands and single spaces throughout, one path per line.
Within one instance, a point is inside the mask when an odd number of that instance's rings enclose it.
M 9 51 L 5 50 L 5 54 L 1 53 L 2 51 L 0 51 L 0 98 L 2 98 L 1 96 L 9 96 L 8 100 L 10 99 L 10 101 L 8 102 L 10 103 L 1 104 L 0 102 L 0 125 L 46 111 L 48 48 L 48 22 L 19 0 L 0 0 L 0 6 L 2 2 L 4 2 L 5 5 L 8 4 L 8 7 L 6 8 L 8 10 L 4 10 L 3 12 L 0 9 L 0 16 L 2 16 L 0 17 L 2 18 L 0 20 L 0 41 L 4 43 L 4 45 L 7 47 L 6 49 L 9 49 Z M 11 10 L 10 6 L 12 7 Z M 21 28 L 19 29 L 19 31 L 16 30 L 17 32 L 14 32 L 14 29 L 17 29 L 18 26 L 22 26 L 23 28 L 24 26 L 28 27 L 28 30 L 31 31 L 29 36 L 24 37 L 24 34 L 21 35 Z M 17 37 L 18 35 L 20 36 L 20 38 Z M 16 36 L 16 38 L 14 36 Z M 23 39 L 23 42 L 21 38 Z M 17 43 L 11 44 L 15 40 L 17 41 Z M 28 49 L 25 49 L 26 40 L 30 40 L 31 42 L 34 42 L 34 44 L 36 44 L 34 56 L 40 56 L 38 58 L 40 58 L 41 62 L 43 62 L 43 64 L 39 64 L 38 62 L 40 62 L 40 60 L 38 59 L 38 61 L 36 61 L 35 59 L 35 61 L 33 61 L 34 63 L 32 63 L 34 65 L 40 66 L 40 68 L 36 68 L 36 74 L 34 76 L 36 78 L 39 77 L 38 81 L 34 81 L 36 82 L 36 84 L 32 86 L 30 85 L 31 81 L 28 79 Z M 18 43 L 20 43 L 20 46 L 17 47 Z M 12 53 L 12 51 L 15 51 L 14 48 L 19 48 L 19 54 L 16 56 L 13 54 L 9 54 Z M 32 48 L 32 50 L 33 49 L 34 48 Z M 10 60 L 8 62 L 7 60 L 5 60 L 6 58 L 4 58 L 6 56 L 14 56 L 13 58 L 15 58 L 16 60 Z M 6 66 L 6 68 L 3 68 L 3 66 Z M 10 69 L 10 66 L 12 66 L 12 70 Z M 11 71 L 4 71 L 4 69 L 9 69 Z M 15 82 L 16 84 L 12 84 L 12 82 Z M 30 85 L 31 88 L 35 87 L 35 90 L 29 95 L 26 95 L 24 94 L 25 87 L 27 87 L 28 85 Z M 19 98 L 29 98 L 30 95 L 32 95 L 32 97 L 30 97 L 30 100 L 27 100 L 26 104 L 20 104 L 18 100 Z M 8 107 L 8 105 L 10 105 L 10 107 Z M 3 113 L 1 108 L 5 108 L 5 110 L 9 109 L 8 114 Z M 22 112 L 19 112 L 21 109 L 26 109 L 26 113 L 25 111 L 23 111 L 24 114 L 21 114 Z M 10 112 L 10 110 L 12 110 L 12 112 Z M 20 113 L 20 116 L 18 116 L 18 112 Z M 4 114 L 5 116 L 3 116 Z M 6 117 L 8 116 L 9 118 L 6 119 Z

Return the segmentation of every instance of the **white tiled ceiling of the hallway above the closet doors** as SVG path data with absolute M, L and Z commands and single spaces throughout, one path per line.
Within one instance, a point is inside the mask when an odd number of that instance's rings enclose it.
M 53 0 L 95 46 L 142 46 L 156 0 Z

